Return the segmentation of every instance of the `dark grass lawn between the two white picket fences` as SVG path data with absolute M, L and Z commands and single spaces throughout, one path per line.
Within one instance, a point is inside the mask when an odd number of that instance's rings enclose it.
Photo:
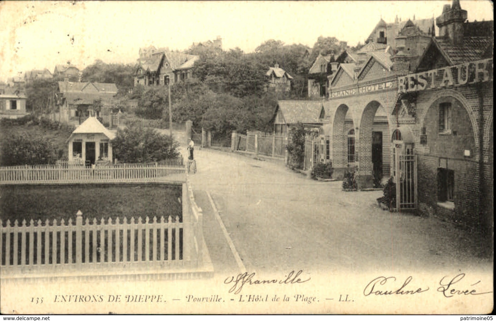
M 103 217 L 134 217 L 179 215 L 182 221 L 181 185 L 136 184 L 136 185 L 20 185 L 0 187 L 0 218 L 5 224 L 23 219 L 48 218 L 60 221 L 75 219 L 80 210 L 83 220 Z M 143 220 L 144 221 L 144 220 Z

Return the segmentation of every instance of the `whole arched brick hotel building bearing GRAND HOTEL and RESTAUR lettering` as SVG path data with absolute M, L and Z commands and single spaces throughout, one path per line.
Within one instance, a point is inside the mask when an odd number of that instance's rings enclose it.
M 369 187 L 391 176 L 400 210 L 491 233 L 494 22 L 466 19 L 453 0 L 437 37 L 407 21 L 393 55 L 341 63 L 328 77 L 322 131 L 335 177 L 355 170 Z

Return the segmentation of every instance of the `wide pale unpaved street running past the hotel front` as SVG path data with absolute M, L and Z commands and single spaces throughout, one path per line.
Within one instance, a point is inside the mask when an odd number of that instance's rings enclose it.
M 216 272 L 240 267 L 207 193 L 248 271 L 492 269 L 479 237 L 437 217 L 383 211 L 382 191 L 343 192 L 341 181 L 224 151 L 196 148 L 195 160 L 189 178 Z

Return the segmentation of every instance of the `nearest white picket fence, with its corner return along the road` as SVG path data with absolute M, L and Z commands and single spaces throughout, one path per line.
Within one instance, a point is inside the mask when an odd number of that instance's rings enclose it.
M 101 275 L 102 271 L 200 267 L 203 215 L 192 190 L 183 184 L 183 215 L 159 218 L 86 218 L 78 211 L 68 221 L 47 219 L 19 225 L 0 219 L 0 276 Z M 103 268 L 103 269 L 102 269 Z M 27 275 L 26 274 L 26 275 Z

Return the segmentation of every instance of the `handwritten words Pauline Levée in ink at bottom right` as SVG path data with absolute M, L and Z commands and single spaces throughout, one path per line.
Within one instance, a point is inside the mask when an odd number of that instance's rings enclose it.
M 470 284 L 470 287 L 466 285 L 462 285 L 459 283 L 463 278 L 465 277 L 465 273 L 460 273 L 456 275 L 453 278 L 449 278 L 447 275 L 443 276 L 441 280 L 439 281 L 439 287 L 437 288 L 437 292 L 441 292 L 444 297 L 450 298 L 455 295 L 479 295 L 479 294 L 487 294 L 487 293 L 493 293 L 493 291 L 489 292 L 477 292 L 473 286 L 476 284 L 480 283 L 481 281 L 477 281 L 473 284 Z M 374 278 L 372 281 L 370 281 L 367 286 L 364 288 L 364 295 L 369 296 L 369 295 L 393 295 L 393 294 L 399 294 L 399 295 L 413 295 L 417 293 L 423 293 L 426 291 L 429 291 L 428 286 L 414 286 L 411 285 L 410 282 L 412 282 L 413 277 L 408 276 L 401 286 L 395 285 L 396 282 L 396 277 L 395 276 L 378 276 Z M 457 284 L 455 286 L 454 284 Z

